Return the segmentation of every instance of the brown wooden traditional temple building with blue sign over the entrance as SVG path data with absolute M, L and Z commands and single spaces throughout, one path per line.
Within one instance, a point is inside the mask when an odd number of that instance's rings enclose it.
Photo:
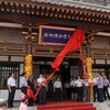
M 0 97 L 8 98 L 9 73 L 19 80 L 23 72 L 47 77 L 51 63 L 77 28 L 85 31 L 84 65 L 79 50 L 68 53 L 52 79 L 63 82 L 85 73 L 91 59 L 92 76 L 105 73 L 110 78 L 110 0 L 0 0 Z M 59 41 L 61 40 L 61 41 Z

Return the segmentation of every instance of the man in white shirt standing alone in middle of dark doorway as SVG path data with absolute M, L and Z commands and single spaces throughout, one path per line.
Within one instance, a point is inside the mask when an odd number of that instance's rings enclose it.
M 63 86 L 59 77 L 57 77 L 56 81 L 54 82 L 54 91 L 55 91 L 56 101 L 62 101 Z

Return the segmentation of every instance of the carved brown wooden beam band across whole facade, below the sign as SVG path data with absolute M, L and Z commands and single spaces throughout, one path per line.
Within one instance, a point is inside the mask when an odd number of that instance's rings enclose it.
M 32 54 L 33 56 L 43 57 L 56 57 L 64 46 L 44 46 L 36 43 L 33 44 Z M 91 47 L 92 58 L 110 59 L 110 47 Z M 25 43 L 0 43 L 0 55 L 25 55 L 26 45 Z M 84 56 L 86 57 L 86 48 L 82 47 Z M 74 51 L 66 55 L 67 58 L 79 57 L 79 51 Z

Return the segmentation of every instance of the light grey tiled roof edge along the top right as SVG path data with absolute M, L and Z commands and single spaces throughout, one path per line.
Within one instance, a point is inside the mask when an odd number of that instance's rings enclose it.
M 88 10 L 110 13 L 110 4 L 108 4 L 107 7 L 107 6 L 88 3 L 88 2 L 68 1 L 68 0 L 31 0 L 31 1 L 52 3 L 52 4 L 57 4 L 57 6 L 64 6 L 64 7 L 68 6 L 68 7 L 75 7 L 75 8 L 80 8 L 80 9 L 88 9 Z

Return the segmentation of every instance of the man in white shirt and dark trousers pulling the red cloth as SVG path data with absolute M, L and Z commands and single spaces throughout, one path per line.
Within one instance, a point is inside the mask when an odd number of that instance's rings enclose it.
M 46 103 L 46 85 L 43 81 L 45 81 L 45 78 L 42 74 L 40 74 L 40 77 L 37 78 L 37 85 L 38 85 L 38 87 L 41 87 L 41 90 L 38 92 L 38 98 L 40 98 L 41 105 Z

